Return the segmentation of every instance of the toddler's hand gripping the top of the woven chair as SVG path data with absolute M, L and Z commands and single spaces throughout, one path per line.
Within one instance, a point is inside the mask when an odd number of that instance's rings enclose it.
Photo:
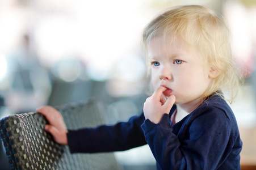
M 44 106 L 36 109 L 37 112 L 43 114 L 49 125 L 45 125 L 44 129 L 52 134 L 55 142 L 61 145 L 68 145 L 66 125 L 60 112 L 50 106 Z

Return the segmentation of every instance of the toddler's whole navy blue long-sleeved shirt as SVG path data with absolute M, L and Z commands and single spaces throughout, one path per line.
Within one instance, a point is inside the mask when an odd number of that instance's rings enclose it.
M 68 133 L 70 152 L 123 151 L 148 144 L 157 169 L 241 169 L 242 142 L 229 105 L 214 95 L 175 125 L 164 114 L 161 122 L 144 114 L 128 122 Z

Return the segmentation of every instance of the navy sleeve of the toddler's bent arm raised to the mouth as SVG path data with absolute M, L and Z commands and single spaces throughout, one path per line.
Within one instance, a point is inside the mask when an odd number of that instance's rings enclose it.
M 174 126 L 169 114 L 158 124 L 146 120 L 142 129 L 158 169 L 240 169 L 242 142 L 232 114 L 202 106 Z

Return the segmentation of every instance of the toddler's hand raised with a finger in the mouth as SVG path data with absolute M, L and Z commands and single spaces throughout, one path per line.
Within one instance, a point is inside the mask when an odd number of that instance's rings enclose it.
M 174 95 L 171 95 L 166 101 L 163 99 L 162 92 L 165 90 L 165 87 L 158 87 L 154 94 L 148 97 L 144 103 L 144 116 L 154 124 L 158 124 L 161 121 L 163 114 L 169 114 L 175 102 Z

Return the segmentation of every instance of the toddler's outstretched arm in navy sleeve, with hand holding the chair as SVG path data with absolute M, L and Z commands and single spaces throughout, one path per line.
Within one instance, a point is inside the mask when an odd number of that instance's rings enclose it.
M 47 118 L 49 125 L 45 125 L 45 130 L 52 134 L 54 141 L 69 145 L 71 152 L 122 151 L 146 144 L 141 129 L 145 121 L 143 113 L 131 117 L 128 122 L 119 122 L 112 126 L 68 131 L 61 113 L 53 107 L 41 107 L 37 112 Z

